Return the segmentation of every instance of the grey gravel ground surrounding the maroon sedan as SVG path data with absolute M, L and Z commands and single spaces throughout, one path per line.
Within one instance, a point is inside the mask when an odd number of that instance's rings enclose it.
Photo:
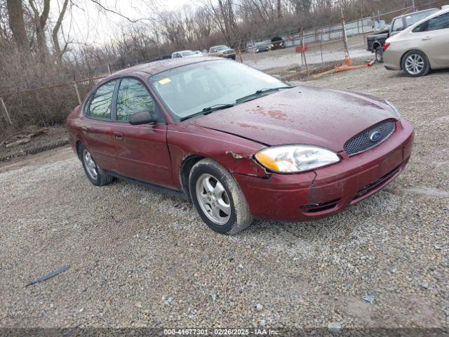
M 387 98 L 416 128 L 401 176 L 311 223 L 227 237 L 180 199 L 94 187 L 68 147 L 2 164 L 0 326 L 449 326 L 448 83 L 380 65 L 306 82 Z

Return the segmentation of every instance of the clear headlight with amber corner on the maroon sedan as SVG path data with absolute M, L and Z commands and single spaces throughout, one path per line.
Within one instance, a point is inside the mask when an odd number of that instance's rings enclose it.
M 267 147 L 257 152 L 255 159 L 267 169 L 279 173 L 310 171 L 340 161 L 335 152 L 311 145 Z

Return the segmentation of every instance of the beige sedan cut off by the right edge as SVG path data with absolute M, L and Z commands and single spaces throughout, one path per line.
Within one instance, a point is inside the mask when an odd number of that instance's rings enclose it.
M 449 67 L 449 8 L 390 37 L 384 49 L 387 70 L 402 70 L 410 77 Z

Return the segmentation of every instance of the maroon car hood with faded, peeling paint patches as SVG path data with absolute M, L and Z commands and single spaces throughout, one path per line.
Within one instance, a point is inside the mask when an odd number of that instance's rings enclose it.
M 356 134 L 384 119 L 395 118 L 391 107 L 377 98 L 297 86 L 190 123 L 263 145 L 309 144 L 340 152 Z

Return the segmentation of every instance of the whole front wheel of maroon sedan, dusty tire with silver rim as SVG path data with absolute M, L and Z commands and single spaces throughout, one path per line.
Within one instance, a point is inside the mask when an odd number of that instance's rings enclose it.
M 215 232 L 236 234 L 253 222 L 239 184 L 223 166 L 211 159 L 202 159 L 192 167 L 189 191 L 196 211 Z

